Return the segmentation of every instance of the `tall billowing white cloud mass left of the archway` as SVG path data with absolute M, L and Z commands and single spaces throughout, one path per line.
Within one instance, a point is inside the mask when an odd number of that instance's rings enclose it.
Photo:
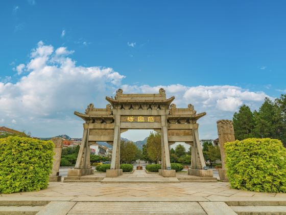
M 71 51 L 54 50 L 38 42 L 25 76 L 16 83 L 0 82 L 0 116 L 7 122 L 17 120 L 18 130 L 36 136 L 58 132 L 80 136 L 82 120 L 74 111 L 84 112 L 90 102 L 105 106 L 104 97 L 119 88 L 124 76 L 111 68 L 77 66 L 66 56 Z M 70 122 L 74 130 L 67 126 Z

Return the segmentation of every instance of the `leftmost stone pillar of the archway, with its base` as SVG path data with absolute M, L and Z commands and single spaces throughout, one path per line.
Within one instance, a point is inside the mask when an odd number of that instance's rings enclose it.
M 86 176 L 92 175 L 93 170 L 90 168 L 90 147 L 88 143 L 89 128 L 88 123 L 83 124 L 83 136 L 77 162 L 74 169 L 68 169 L 67 176 Z

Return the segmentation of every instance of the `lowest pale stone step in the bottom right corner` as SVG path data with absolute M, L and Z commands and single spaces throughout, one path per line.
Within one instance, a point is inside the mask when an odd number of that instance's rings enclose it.
M 286 214 L 286 206 L 230 206 L 239 215 Z

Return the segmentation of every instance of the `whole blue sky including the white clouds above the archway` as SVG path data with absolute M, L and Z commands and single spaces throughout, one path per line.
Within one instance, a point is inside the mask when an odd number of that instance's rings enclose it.
M 257 109 L 265 96 L 286 92 L 285 6 L 285 1 L 1 1 L 0 122 L 34 136 L 81 136 L 74 109 L 83 112 L 90 102 L 104 106 L 105 95 L 118 88 L 140 93 L 163 86 L 179 106 L 194 103 L 198 112 L 210 113 L 200 135 L 216 138 L 217 119 L 232 118 L 243 103 Z M 79 73 L 96 67 L 110 68 L 109 75 L 74 77 L 49 51 L 41 66 L 29 67 L 49 47 L 54 53 L 64 47 L 62 59 L 74 61 Z M 45 76 L 51 65 L 58 66 L 51 71 L 55 76 Z M 61 72 L 65 82 L 56 77 Z M 49 84 L 57 91 L 51 93 Z

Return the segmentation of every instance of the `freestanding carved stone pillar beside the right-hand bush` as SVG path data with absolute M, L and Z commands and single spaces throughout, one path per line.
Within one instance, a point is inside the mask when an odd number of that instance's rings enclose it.
M 228 119 L 221 119 L 217 121 L 219 143 L 220 143 L 221 157 L 222 157 L 222 169 L 219 169 L 219 175 L 222 181 L 228 181 L 228 177 L 226 175 L 226 166 L 225 166 L 224 144 L 226 142 L 232 142 L 235 140 L 232 123 L 233 122 Z

